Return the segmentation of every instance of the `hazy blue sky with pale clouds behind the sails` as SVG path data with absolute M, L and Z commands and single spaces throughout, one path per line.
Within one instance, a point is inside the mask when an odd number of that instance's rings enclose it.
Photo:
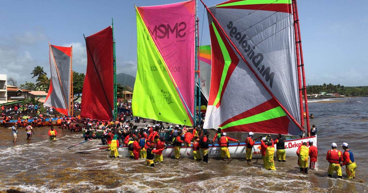
M 224 0 L 204 0 L 212 6 Z M 180 0 L 64 0 L 1 1 L 0 74 L 35 82 L 30 75 L 40 65 L 50 74 L 48 42 L 73 46 L 73 70 L 85 73 L 83 34 L 92 35 L 114 19 L 117 73 L 137 71 L 136 6 L 176 3 Z M 344 86 L 367 86 L 367 0 L 298 0 L 306 81 Z M 198 3 L 201 45 L 210 44 L 204 6 Z M 203 17 L 204 16 L 204 17 Z

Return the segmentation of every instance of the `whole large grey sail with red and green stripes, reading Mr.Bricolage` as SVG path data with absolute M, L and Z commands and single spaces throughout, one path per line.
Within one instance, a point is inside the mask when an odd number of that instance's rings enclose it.
M 211 84 L 204 128 L 301 135 L 291 0 L 207 9 Z

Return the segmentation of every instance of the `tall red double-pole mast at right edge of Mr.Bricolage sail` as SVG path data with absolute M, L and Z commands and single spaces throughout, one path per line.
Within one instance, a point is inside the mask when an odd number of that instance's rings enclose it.
M 309 137 L 309 136 L 311 136 L 311 126 L 309 125 L 307 87 L 306 87 L 306 84 L 305 84 L 303 49 L 302 49 L 302 46 L 301 46 L 300 24 L 299 24 L 298 6 L 297 6 L 297 1 L 296 0 L 293 0 L 293 9 L 294 9 L 294 12 L 295 12 L 295 15 L 296 15 L 296 26 L 297 26 L 297 32 L 298 32 L 298 41 L 297 42 L 298 42 L 299 48 L 300 48 L 300 61 L 301 61 L 300 67 L 301 67 L 301 72 L 302 72 L 302 76 L 303 76 L 303 88 L 302 89 L 304 90 L 305 114 L 306 114 L 305 117 L 307 118 L 307 131 L 308 131 L 308 137 Z M 298 55 L 298 53 L 297 53 L 297 55 Z M 299 75 L 299 77 L 300 77 L 300 75 Z

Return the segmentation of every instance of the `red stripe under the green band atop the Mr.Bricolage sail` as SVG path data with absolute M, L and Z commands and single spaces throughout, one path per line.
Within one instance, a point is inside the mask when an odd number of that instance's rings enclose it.
M 285 12 L 291 14 L 291 4 L 253 4 L 253 5 L 241 5 L 241 6 L 224 6 L 216 8 L 227 8 L 227 9 L 243 9 L 243 10 L 262 10 L 262 11 L 276 11 Z

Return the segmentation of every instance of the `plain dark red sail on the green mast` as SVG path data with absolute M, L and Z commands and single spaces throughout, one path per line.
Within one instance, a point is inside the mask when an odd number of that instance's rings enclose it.
M 81 117 L 113 117 L 113 31 L 111 26 L 86 37 L 87 72 L 82 91 Z

